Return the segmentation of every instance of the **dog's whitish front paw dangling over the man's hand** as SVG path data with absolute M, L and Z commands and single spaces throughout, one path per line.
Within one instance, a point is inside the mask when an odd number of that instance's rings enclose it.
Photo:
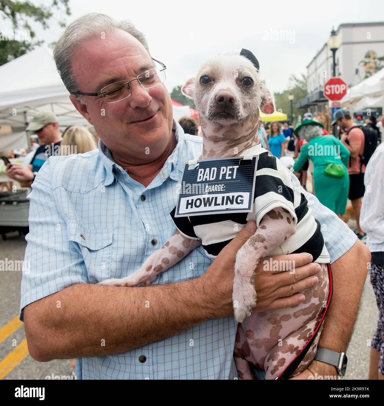
M 256 307 L 256 291 L 252 283 L 235 278 L 232 294 L 234 317 L 242 323 Z

